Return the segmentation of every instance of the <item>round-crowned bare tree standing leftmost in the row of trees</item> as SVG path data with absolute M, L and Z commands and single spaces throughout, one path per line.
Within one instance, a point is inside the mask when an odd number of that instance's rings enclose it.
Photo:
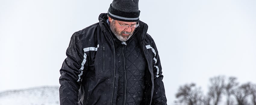
M 176 93 L 176 98 L 179 98 L 181 103 L 185 102 L 188 105 L 198 105 L 201 97 L 201 88 L 196 88 L 195 83 L 180 86 L 178 92 Z

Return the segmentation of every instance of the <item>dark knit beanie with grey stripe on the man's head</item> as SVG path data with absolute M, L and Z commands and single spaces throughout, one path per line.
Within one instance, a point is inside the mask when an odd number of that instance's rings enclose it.
M 108 9 L 108 16 L 125 22 L 139 21 L 139 0 L 113 0 Z

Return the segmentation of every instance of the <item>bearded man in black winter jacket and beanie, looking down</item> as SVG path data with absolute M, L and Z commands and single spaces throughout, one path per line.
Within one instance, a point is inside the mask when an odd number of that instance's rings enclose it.
M 138 0 L 114 0 L 75 32 L 60 73 L 61 105 L 166 105 L 161 63 Z

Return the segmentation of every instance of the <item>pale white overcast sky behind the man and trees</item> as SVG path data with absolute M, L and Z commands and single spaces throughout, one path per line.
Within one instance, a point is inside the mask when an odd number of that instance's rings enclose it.
M 112 0 L 0 0 L 0 91 L 59 85 L 71 35 Z M 161 58 L 167 103 L 180 85 L 210 77 L 256 83 L 255 0 L 140 0 Z

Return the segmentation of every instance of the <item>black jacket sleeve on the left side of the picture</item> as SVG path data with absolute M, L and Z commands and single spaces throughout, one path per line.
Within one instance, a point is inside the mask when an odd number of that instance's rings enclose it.
M 83 70 L 86 69 L 84 61 L 85 52 L 78 38 L 77 33 L 71 37 L 70 44 L 66 51 L 67 58 L 60 69 L 60 105 L 78 105 L 78 91 Z

